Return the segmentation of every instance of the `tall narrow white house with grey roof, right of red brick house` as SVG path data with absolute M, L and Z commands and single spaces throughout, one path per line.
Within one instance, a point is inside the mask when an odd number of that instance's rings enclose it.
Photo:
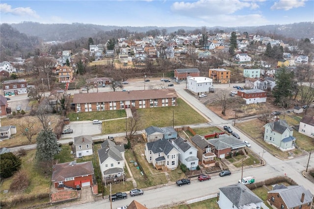
M 125 149 L 124 145 L 116 145 L 106 139 L 98 150 L 98 158 L 103 182 L 109 182 L 119 177 L 124 177 Z

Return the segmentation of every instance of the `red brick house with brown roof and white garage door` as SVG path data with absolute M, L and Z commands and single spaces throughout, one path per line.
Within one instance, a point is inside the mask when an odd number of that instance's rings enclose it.
M 54 188 L 63 189 L 91 186 L 93 184 L 94 168 L 92 161 L 76 161 L 54 164 L 51 181 Z

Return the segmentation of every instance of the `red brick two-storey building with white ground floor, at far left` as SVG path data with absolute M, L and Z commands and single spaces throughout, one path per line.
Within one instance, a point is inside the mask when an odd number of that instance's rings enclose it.
M 4 80 L 2 86 L 5 97 L 27 94 L 26 79 Z

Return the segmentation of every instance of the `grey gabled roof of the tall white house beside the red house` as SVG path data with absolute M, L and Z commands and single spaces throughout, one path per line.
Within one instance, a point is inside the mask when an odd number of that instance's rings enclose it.
M 121 153 L 125 152 L 124 145 L 115 145 L 114 142 L 106 139 L 101 144 L 102 149 L 98 150 L 98 157 L 100 159 L 100 163 L 102 164 L 107 158 L 112 158 L 116 161 L 124 160 Z

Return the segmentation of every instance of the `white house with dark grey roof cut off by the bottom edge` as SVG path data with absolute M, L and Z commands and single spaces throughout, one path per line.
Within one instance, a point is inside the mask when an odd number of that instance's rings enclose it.
M 243 183 L 219 188 L 220 209 L 260 209 L 263 201 Z

